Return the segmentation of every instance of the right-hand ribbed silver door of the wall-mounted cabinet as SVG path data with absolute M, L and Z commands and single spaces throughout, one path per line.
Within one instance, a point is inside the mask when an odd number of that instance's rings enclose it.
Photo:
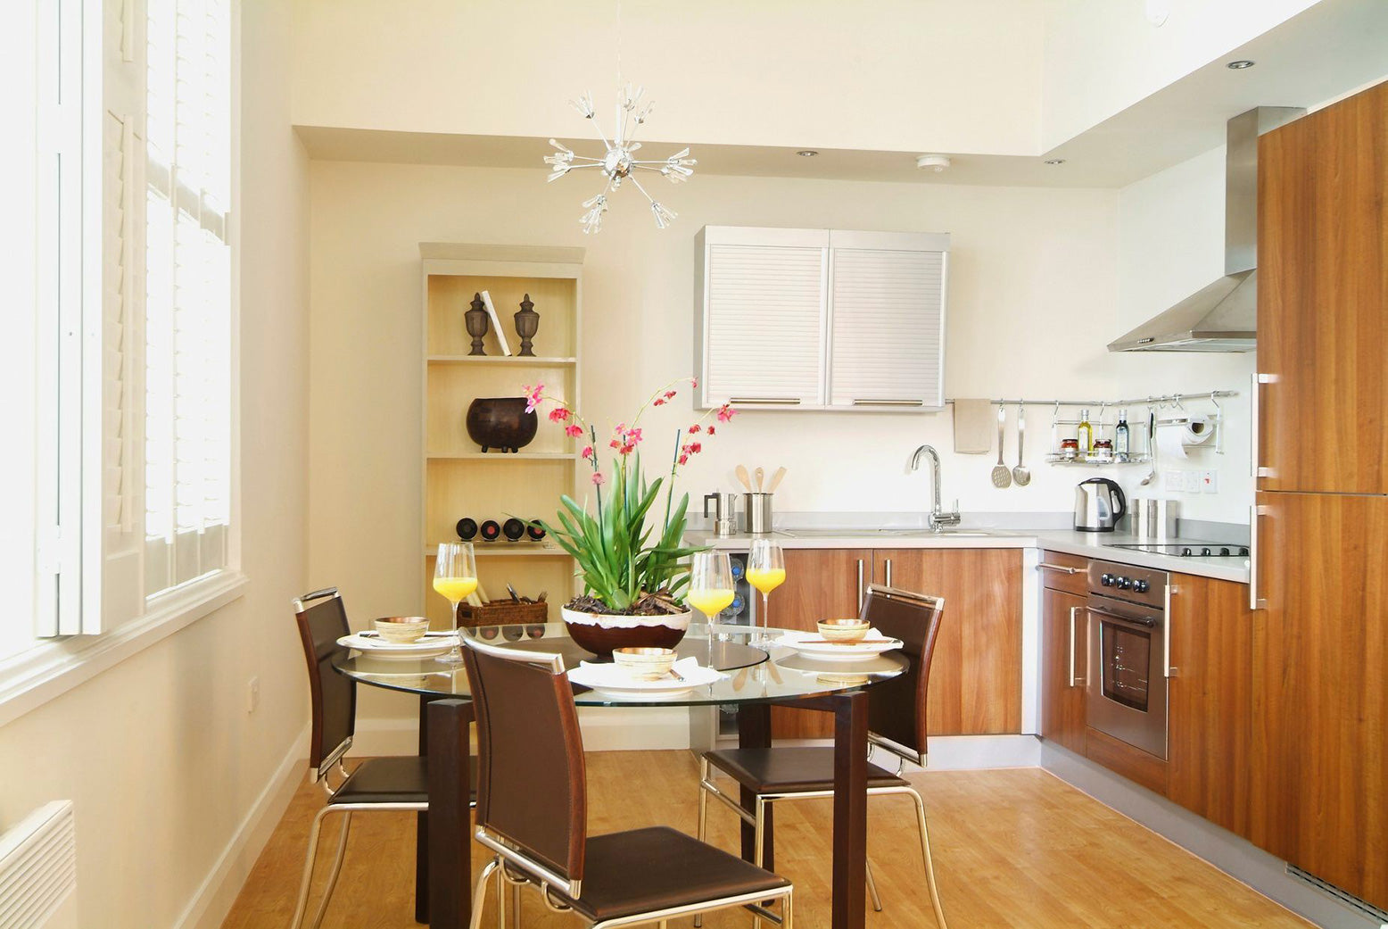
M 944 405 L 944 251 L 833 249 L 834 405 Z

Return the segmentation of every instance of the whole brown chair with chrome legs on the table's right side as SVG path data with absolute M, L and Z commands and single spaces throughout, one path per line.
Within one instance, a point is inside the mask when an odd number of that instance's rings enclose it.
M 945 914 L 936 889 L 936 871 L 930 861 L 930 832 L 926 828 L 926 804 L 901 776 L 901 762 L 926 764 L 926 690 L 930 685 L 930 658 L 940 632 L 940 617 L 945 601 L 909 590 L 872 585 L 863 601 L 862 617 L 883 635 L 901 639 L 902 651 L 911 658 L 911 669 L 876 685 L 867 692 L 867 739 L 873 746 L 898 757 L 897 771 L 874 764 L 867 765 L 867 794 L 906 794 L 916 803 L 920 826 L 920 853 L 926 861 L 926 882 L 930 886 L 930 905 L 936 922 L 945 929 Z M 729 775 L 741 787 L 756 794 L 754 812 L 743 808 L 738 797 L 723 793 L 711 776 L 711 768 Z M 756 835 L 756 862 L 762 860 L 762 826 L 766 807 L 777 800 L 811 800 L 834 796 L 833 747 L 727 748 L 708 751 L 700 760 L 698 837 L 704 839 L 708 817 L 708 797 L 727 804 L 744 821 L 751 822 Z M 873 908 L 881 910 L 881 900 L 867 868 L 867 889 Z M 698 925 L 695 922 L 695 925 Z

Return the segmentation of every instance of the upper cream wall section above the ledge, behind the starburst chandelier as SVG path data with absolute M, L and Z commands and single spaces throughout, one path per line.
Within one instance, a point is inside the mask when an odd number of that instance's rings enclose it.
M 616 0 L 294 7 L 296 124 L 583 136 L 589 89 L 611 124 Z M 622 71 L 645 139 L 1034 154 L 1042 35 L 1035 0 L 626 0 Z

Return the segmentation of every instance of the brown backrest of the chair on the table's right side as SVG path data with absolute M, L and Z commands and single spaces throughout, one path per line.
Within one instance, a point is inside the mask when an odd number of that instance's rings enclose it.
M 901 639 L 911 668 L 867 692 L 867 729 L 876 744 L 924 764 L 926 692 L 930 687 L 930 660 L 945 601 L 922 593 L 870 585 L 862 618 L 884 636 Z

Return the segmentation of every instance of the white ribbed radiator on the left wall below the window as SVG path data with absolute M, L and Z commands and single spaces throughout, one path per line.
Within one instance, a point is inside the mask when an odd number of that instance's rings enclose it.
M 76 929 L 72 801 L 40 807 L 0 835 L 0 929 Z

